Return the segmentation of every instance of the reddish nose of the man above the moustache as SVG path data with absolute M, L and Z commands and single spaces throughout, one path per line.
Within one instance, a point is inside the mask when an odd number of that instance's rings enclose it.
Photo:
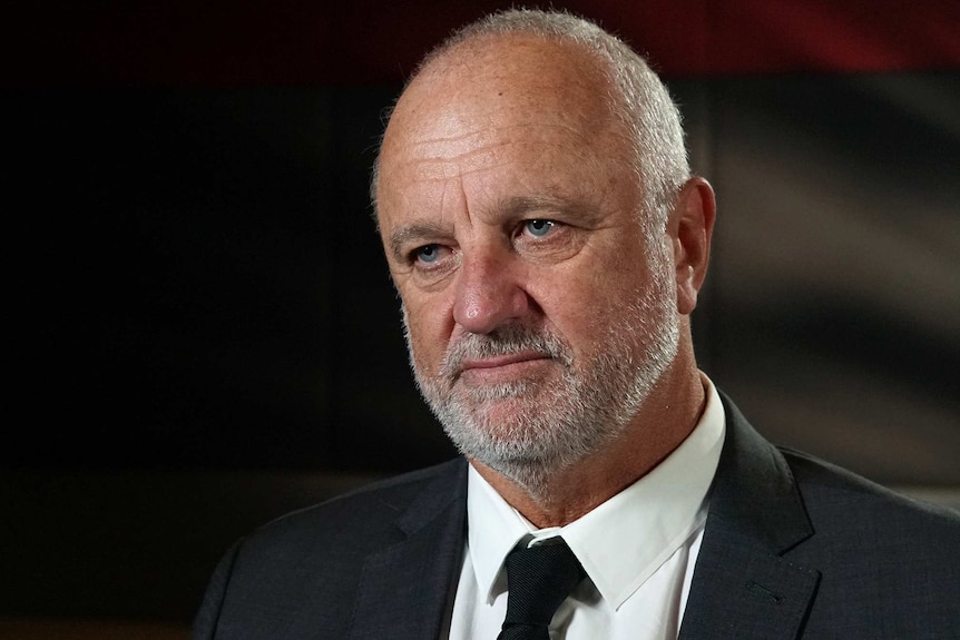
M 463 329 L 488 334 L 523 317 L 530 298 L 508 256 L 463 256 L 453 319 Z

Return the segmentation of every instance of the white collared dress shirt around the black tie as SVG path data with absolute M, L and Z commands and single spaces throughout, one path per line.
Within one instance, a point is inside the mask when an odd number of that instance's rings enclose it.
M 566 526 L 538 530 L 470 467 L 451 640 L 496 640 L 507 612 L 507 554 L 520 541 L 555 535 L 587 579 L 557 610 L 551 639 L 676 639 L 725 430 L 719 396 L 701 377 L 706 407 L 690 435 L 640 480 Z

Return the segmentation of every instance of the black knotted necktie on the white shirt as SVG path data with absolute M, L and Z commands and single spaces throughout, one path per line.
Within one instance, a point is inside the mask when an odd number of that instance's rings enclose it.
M 586 573 L 561 539 L 507 557 L 507 617 L 497 640 L 549 640 L 557 608 Z

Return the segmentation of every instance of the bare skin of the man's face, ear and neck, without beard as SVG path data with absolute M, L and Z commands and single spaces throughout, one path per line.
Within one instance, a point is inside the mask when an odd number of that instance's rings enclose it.
M 538 526 L 566 524 L 643 476 L 704 404 L 688 314 L 706 273 L 713 193 L 690 179 L 663 233 L 645 237 L 644 186 L 598 65 L 575 45 L 532 36 L 455 47 L 399 100 L 375 186 L 418 378 L 473 398 L 493 440 L 520 437 L 498 425 L 556 403 L 565 372 L 587 372 L 611 336 L 624 343 L 616 368 L 655 365 L 639 406 L 574 460 L 523 475 L 471 459 Z M 567 361 L 526 348 L 444 367 L 452 345 L 510 326 L 555 336 Z M 660 353 L 657 329 L 669 335 L 668 360 L 648 363 Z M 510 385 L 523 393 L 483 396 Z

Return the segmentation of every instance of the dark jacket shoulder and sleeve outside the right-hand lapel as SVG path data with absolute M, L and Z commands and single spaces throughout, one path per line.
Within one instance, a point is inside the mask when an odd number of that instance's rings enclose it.
M 820 572 L 806 637 L 942 638 L 960 629 L 960 513 L 784 451 L 814 534 L 785 554 Z

